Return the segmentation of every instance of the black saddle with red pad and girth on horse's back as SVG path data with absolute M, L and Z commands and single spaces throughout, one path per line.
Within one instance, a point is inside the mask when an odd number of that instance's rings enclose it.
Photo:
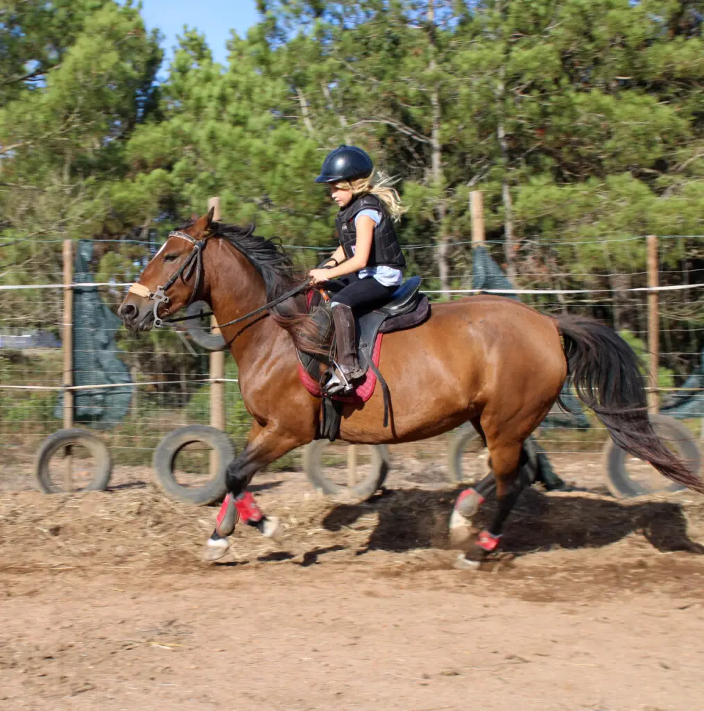
M 430 303 L 426 294 L 421 294 L 421 277 L 411 277 L 392 294 L 391 299 L 383 306 L 361 314 L 355 314 L 355 336 L 357 343 L 357 358 L 366 377 L 360 380 L 354 392 L 348 395 L 325 394 L 325 382 L 334 367 L 332 352 L 332 316 L 330 306 L 318 292 L 311 292 L 308 309 L 313 321 L 318 325 L 319 343 L 325 346 L 325 353 L 308 353 L 298 351 L 300 380 L 308 391 L 316 397 L 323 397 L 323 417 L 327 422 L 321 424 L 321 437 L 335 439 L 340 424 L 342 404 L 357 404 L 369 400 L 374 392 L 377 380 L 384 387 L 384 426 L 386 426 L 388 410 L 388 388 L 379 373 L 379 356 L 381 355 L 381 336 L 383 333 L 404 331 L 422 324 L 430 315 Z M 327 417 L 325 417 L 327 415 Z M 324 430 L 324 431 L 323 431 Z

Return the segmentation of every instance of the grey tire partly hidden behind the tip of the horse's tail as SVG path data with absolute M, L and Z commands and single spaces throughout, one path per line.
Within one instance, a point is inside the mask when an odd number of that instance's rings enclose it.
M 692 470 L 700 474 L 702 466 L 702 453 L 697 446 L 697 442 L 689 429 L 668 415 L 651 415 L 650 421 L 655 431 L 664 438 L 678 439 L 676 450 L 682 459 L 691 461 Z M 606 485 L 609 491 L 616 498 L 632 498 L 633 496 L 644 496 L 655 491 L 682 491 L 685 486 L 671 481 L 668 486 L 661 490 L 651 490 L 643 488 L 636 481 L 632 481 L 626 471 L 626 451 L 614 443 L 612 439 L 605 444 L 602 453 L 602 462 L 606 474 Z

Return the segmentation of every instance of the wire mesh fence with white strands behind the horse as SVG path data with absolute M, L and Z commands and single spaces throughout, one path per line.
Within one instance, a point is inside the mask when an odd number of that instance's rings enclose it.
M 516 262 L 516 289 L 487 291 L 519 296 L 545 314 L 569 311 L 610 321 L 642 353 L 644 365 L 649 341 L 648 297 L 656 293 L 661 343 L 656 387 L 665 400 L 681 392 L 688 375 L 700 363 L 704 346 L 704 237 L 659 239 L 656 288 L 648 283 L 645 242 L 644 237 L 536 242 L 533 249 L 524 247 Z M 467 244 L 450 245 L 450 289 L 438 287 L 438 245 L 406 246 L 409 273 L 421 276 L 421 288 L 431 300 L 463 298 L 477 292 L 472 288 L 472 250 Z M 502 245 L 488 244 L 497 261 L 502 262 Z M 92 243 L 90 272 L 74 280 L 71 287 L 76 293 L 94 290 L 114 313 L 126 288 L 158 246 L 156 240 L 97 240 Z M 579 265 L 589 263 L 590 250 L 600 266 L 586 272 Z M 330 250 L 298 246 L 296 260 L 311 267 L 325 251 Z M 419 252 L 426 256 L 416 258 Z M 58 243 L 4 242 L 0 244 L 0 264 L 0 299 L 4 304 L 0 311 L 0 454 L 7 462 L 31 459 L 42 439 L 62 427 L 65 287 Z M 96 391 L 98 395 L 91 402 L 99 412 L 94 417 L 88 412 L 77 418 L 78 422 L 99 430 L 117 464 L 148 464 L 153 449 L 172 429 L 210 421 L 208 354 L 185 343 L 174 331 L 131 333 L 114 319 L 112 323 L 105 321 L 97 334 L 94 321 L 82 324 L 74 319 L 74 341 L 92 345 L 75 348 L 74 377 L 83 385 L 72 390 L 81 395 Z M 125 372 L 129 385 L 119 381 Z M 239 394 L 237 375 L 237 365 L 227 355 L 224 378 L 219 379 L 224 381 L 226 431 L 237 447 L 242 447 L 251 420 Z M 118 402 L 111 398 L 111 390 L 128 392 L 127 404 L 124 399 Z M 607 434 L 594 417 L 589 415 L 589 419 L 588 429 L 548 420 L 539 434 L 542 447 L 548 454 L 600 456 Z M 700 433 L 700 422 L 688 424 L 693 432 Z M 440 437 L 399 445 L 394 450 L 421 459 L 444 459 L 446 442 L 447 437 Z M 298 454 L 278 466 L 296 464 Z

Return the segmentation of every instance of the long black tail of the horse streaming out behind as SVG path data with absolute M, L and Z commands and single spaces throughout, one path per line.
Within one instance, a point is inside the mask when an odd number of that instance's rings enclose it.
M 704 481 L 655 433 L 638 358 L 628 343 L 612 328 L 591 319 L 565 315 L 555 320 L 577 394 L 605 424 L 614 442 L 649 461 L 668 479 L 704 493 Z

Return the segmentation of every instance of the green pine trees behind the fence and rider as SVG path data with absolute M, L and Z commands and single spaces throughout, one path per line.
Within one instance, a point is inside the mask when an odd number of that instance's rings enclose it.
M 466 287 L 471 278 L 474 189 L 484 193 L 487 238 L 499 243 L 494 255 L 519 287 L 551 288 L 559 279 L 563 288 L 615 289 L 619 272 L 643 286 L 645 242 L 626 238 L 648 234 L 688 235 L 662 240 L 661 264 L 674 274 L 664 273 L 664 283 L 680 281 L 685 266 L 700 278 L 701 0 L 258 6 L 261 21 L 245 38 L 233 33 L 226 65 L 187 29 L 157 81 L 158 33 L 146 33 L 139 6 L 4 3 L 6 282 L 56 281 L 54 240 L 66 237 L 119 240 L 97 250 L 94 267 L 101 281 L 130 281 L 151 250 L 129 240 L 153 246 L 216 194 L 228 221 L 256 222 L 286 244 L 332 247 L 334 210 L 313 177 L 343 141 L 401 178 L 410 208 L 399 225 L 408 273 L 422 274 L 427 287 Z M 500 255 L 507 228 L 513 245 Z M 450 244 L 445 257 L 411 249 L 438 242 Z M 308 264 L 317 256 L 296 252 Z M 114 305 L 120 296 L 104 292 Z M 3 298 L 27 324 L 47 321 L 42 294 Z M 701 319 L 692 304 L 673 304 L 668 318 L 683 324 L 671 350 L 702 346 L 687 328 Z M 637 319 L 627 305 L 615 320 L 635 330 Z M 50 320 L 58 323 L 58 315 Z M 178 351 L 173 338 L 119 333 L 132 367 L 202 370 L 190 356 L 165 352 Z M 144 350 L 153 353 L 136 355 Z M 242 407 L 231 409 L 237 437 L 246 429 Z

